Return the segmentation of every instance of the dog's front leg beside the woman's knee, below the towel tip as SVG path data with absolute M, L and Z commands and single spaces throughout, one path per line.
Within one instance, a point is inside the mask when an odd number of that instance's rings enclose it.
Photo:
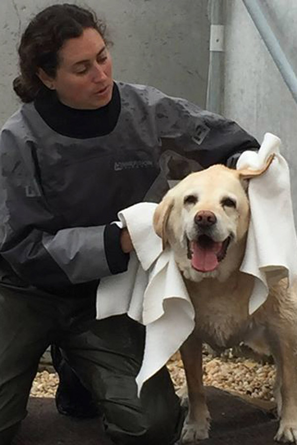
M 182 431 L 183 444 L 195 444 L 201 439 L 208 438 L 210 416 L 205 401 L 202 382 L 202 342 L 192 333 L 181 347 L 184 362 L 189 412 Z

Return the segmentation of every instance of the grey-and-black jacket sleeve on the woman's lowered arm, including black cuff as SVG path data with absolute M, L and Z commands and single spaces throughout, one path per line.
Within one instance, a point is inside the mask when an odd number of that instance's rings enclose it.
M 23 281 L 61 288 L 126 270 L 115 225 L 63 227 L 39 181 L 32 141 L 0 135 L 0 255 Z

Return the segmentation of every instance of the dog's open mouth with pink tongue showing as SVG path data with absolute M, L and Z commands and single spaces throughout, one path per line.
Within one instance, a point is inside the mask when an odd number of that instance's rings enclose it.
M 199 272 L 215 270 L 225 258 L 230 241 L 230 236 L 222 242 L 217 242 L 207 235 L 200 235 L 195 241 L 188 240 L 188 258 L 192 267 Z

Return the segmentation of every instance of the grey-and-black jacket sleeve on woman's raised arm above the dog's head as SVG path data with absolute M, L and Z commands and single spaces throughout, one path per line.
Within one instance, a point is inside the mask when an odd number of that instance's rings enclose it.
M 202 110 L 197 105 L 151 89 L 156 127 L 165 150 L 193 159 L 202 168 L 213 164 L 235 167 L 245 150 L 257 150 L 257 140 L 236 122 Z

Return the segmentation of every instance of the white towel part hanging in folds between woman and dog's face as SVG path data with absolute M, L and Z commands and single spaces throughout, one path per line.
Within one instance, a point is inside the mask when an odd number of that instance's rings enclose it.
M 140 203 L 119 212 L 117 224 L 128 227 L 136 254 L 130 254 L 126 272 L 102 278 L 97 291 L 97 318 L 127 313 L 146 326 L 144 358 L 136 378 L 139 394 L 195 325 L 194 308 L 173 252 L 162 252 L 162 241 L 152 227 L 156 206 Z

